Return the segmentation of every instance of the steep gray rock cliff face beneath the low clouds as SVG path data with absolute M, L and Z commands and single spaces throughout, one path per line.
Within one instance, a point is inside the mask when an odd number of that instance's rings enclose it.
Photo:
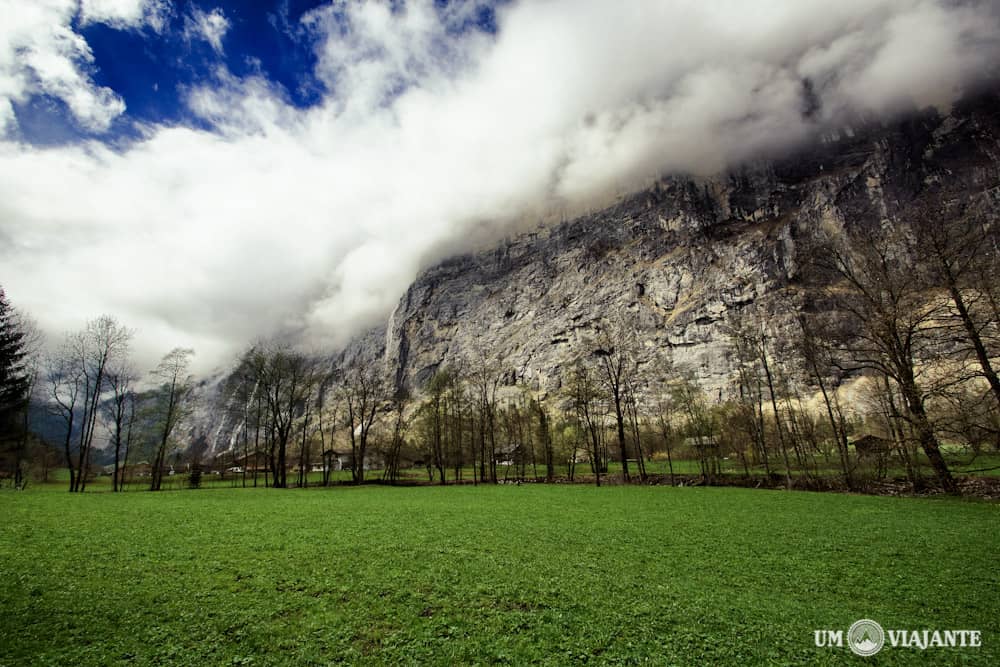
M 841 128 L 781 162 L 710 179 L 669 178 L 571 222 L 425 271 L 386 330 L 355 353 L 382 356 L 417 390 L 442 365 L 481 353 L 506 381 L 559 388 L 608 322 L 637 333 L 709 391 L 728 384 L 727 319 L 794 290 L 799 248 L 822 228 L 897 221 L 926 183 L 1000 201 L 1000 103 L 986 96 L 947 117 Z M 765 313 L 789 326 L 793 313 Z

